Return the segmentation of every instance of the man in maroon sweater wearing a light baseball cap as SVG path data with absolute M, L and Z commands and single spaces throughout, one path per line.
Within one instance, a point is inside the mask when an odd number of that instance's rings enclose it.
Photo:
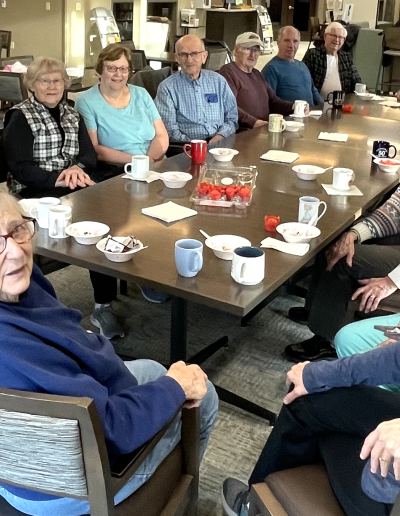
M 263 48 L 258 34 L 239 34 L 233 50 L 235 62 L 224 65 L 219 71 L 236 97 L 241 128 L 252 129 L 267 124 L 270 113 L 284 116 L 293 113 L 293 103 L 277 97 L 254 68 Z

